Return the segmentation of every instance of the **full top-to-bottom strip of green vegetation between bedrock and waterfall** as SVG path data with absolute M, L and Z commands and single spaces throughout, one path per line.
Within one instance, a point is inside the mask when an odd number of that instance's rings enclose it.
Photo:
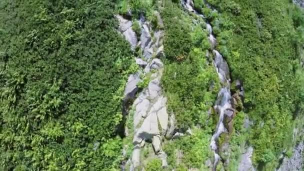
M 210 138 L 216 117 L 207 114 L 220 84 L 206 51 L 210 48 L 204 21 L 192 23 L 192 16 L 175 3 L 166 1 L 160 11 L 164 22 L 165 65 L 162 85 L 168 98 L 168 112 L 173 112 L 178 130 L 192 128 L 193 134 L 167 141 L 168 169 L 206 169 Z M 214 117 L 213 117 L 214 116 Z M 197 128 L 199 126 L 200 128 Z

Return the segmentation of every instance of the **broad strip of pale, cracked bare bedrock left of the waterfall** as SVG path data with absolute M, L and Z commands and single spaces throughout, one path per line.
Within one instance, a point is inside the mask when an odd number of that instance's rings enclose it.
M 158 25 L 163 25 L 159 13 Z M 163 55 L 163 30 L 157 29 L 153 32 L 153 37 L 150 32 L 151 25 L 141 15 L 139 21 L 141 27 L 141 35 L 137 42 L 136 34 L 133 34 L 132 22 L 117 16 L 119 19 L 119 30 L 124 35 L 125 39 L 129 41 L 131 48 L 134 49 L 138 46 L 141 49 L 141 56 L 135 58 L 136 64 L 144 69 L 138 70 L 136 73 L 131 74 L 125 86 L 125 98 L 135 98 L 137 93 L 138 82 L 142 81 L 140 77 L 149 74 L 149 82 L 147 87 L 144 87 L 137 95 L 132 104 L 134 108 L 133 114 L 133 132 L 132 134 L 133 149 L 129 160 L 130 170 L 135 170 L 142 164 L 141 150 L 146 143 L 151 143 L 155 157 L 162 161 L 162 166 L 167 166 L 166 154 L 161 149 L 163 138 L 171 137 L 174 131 L 174 116 L 168 115 L 166 109 L 166 97 L 162 94 L 160 86 L 160 79 L 163 71 L 163 63 L 157 58 Z M 126 32 L 129 30 L 128 32 Z M 128 33 L 128 34 L 126 34 Z M 136 37 L 136 40 L 135 40 Z M 124 168 L 124 166 L 122 166 Z

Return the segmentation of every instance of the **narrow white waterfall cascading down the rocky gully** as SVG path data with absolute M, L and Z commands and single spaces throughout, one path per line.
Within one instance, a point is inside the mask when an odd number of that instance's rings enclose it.
M 198 16 L 201 16 L 205 19 L 203 14 L 199 14 L 197 11 L 193 9 L 193 2 L 192 0 L 181 0 L 181 4 L 184 8 L 186 8 L 188 11 L 193 12 L 197 14 Z M 208 6 L 209 7 L 209 6 Z M 219 119 L 216 125 L 216 130 L 214 134 L 212 135 L 211 142 L 210 142 L 210 148 L 214 153 L 214 163 L 213 163 L 213 170 L 216 170 L 216 165 L 218 161 L 220 160 L 220 156 L 218 154 L 218 145 L 217 140 L 223 132 L 227 132 L 227 129 L 224 126 L 224 118 L 225 116 L 231 117 L 233 114 L 233 109 L 231 106 L 231 92 L 230 92 L 230 78 L 229 78 L 229 67 L 227 62 L 224 60 L 222 55 L 215 49 L 216 47 L 216 38 L 212 34 L 212 26 L 206 21 L 206 29 L 209 33 L 208 39 L 211 43 L 212 47 L 212 53 L 214 56 L 213 59 L 213 65 L 216 68 L 216 72 L 218 74 L 218 77 L 221 81 L 222 87 L 220 91 L 217 94 L 216 102 L 214 105 L 214 109 L 219 114 Z M 232 114 L 231 114 L 232 112 Z

